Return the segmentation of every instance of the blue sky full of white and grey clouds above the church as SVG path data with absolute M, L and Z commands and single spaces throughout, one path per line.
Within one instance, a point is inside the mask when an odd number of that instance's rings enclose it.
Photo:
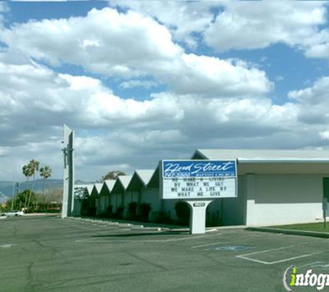
M 0 180 L 195 149 L 328 149 L 327 1 L 0 2 Z

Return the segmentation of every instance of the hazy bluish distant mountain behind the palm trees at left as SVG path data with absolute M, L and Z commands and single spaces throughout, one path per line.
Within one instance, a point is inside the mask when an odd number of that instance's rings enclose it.
M 31 182 L 28 182 L 31 185 Z M 42 179 L 37 179 L 34 185 L 35 192 L 42 192 Z M 30 188 L 30 186 L 28 187 Z M 63 180 L 62 179 L 47 179 L 45 184 L 45 190 L 53 190 L 53 189 L 62 189 L 63 188 Z M 26 182 L 23 181 L 19 183 L 19 187 L 17 190 L 17 186 L 15 185 L 15 194 L 18 192 L 22 192 L 26 189 Z M 2 196 L 1 196 L 2 194 Z M 1 197 L 11 197 L 12 195 L 12 181 L 0 181 L 0 201 Z

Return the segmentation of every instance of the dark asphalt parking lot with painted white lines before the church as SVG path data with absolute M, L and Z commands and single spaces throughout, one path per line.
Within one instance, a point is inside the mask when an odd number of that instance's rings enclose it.
M 292 264 L 329 273 L 329 241 L 316 237 L 189 235 L 59 217 L 11 217 L 0 230 L 1 292 L 285 291 Z

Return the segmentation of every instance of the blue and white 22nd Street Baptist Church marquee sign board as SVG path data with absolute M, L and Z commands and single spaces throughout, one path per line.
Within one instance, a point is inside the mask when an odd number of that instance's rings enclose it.
M 162 161 L 162 199 L 236 197 L 235 161 Z

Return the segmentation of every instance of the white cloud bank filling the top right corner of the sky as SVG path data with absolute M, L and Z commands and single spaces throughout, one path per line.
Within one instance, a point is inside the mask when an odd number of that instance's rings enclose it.
M 284 43 L 308 57 L 329 58 L 324 1 L 110 1 L 150 16 L 174 39 L 197 48 L 200 40 L 223 52 Z M 216 12 L 217 11 L 217 12 Z

